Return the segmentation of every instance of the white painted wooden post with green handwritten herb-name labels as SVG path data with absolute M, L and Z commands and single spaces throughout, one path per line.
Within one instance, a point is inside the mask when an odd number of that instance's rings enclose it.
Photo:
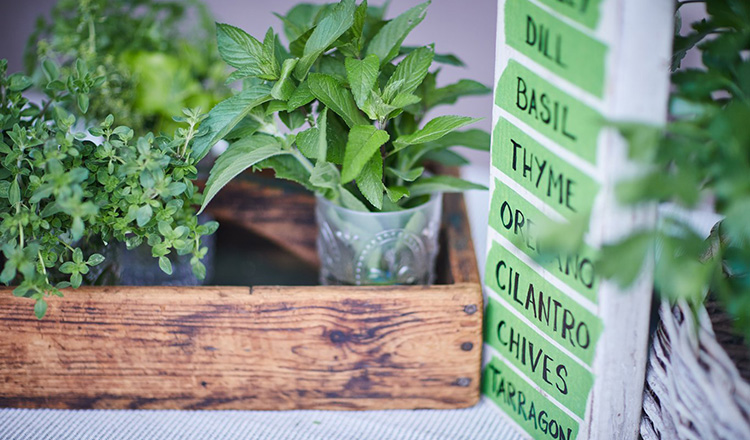
M 606 121 L 666 122 L 673 16 L 667 0 L 498 1 L 483 390 L 532 438 L 638 436 L 652 277 L 623 292 L 591 261 L 654 221 L 617 204 L 638 170 Z M 539 225 L 588 213 L 578 254 L 539 259 Z

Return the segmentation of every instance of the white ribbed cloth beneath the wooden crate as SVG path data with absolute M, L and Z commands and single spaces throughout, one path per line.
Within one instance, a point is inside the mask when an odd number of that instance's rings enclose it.
M 468 409 L 152 411 L 0 409 L 3 440 L 516 440 L 486 398 Z

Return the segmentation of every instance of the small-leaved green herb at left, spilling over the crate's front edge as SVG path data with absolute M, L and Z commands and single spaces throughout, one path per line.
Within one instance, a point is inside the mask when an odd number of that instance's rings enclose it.
M 39 106 L 24 96 L 31 79 L 6 76 L 0 60 L 0 282 L 35 300 L 41 319 L 49 295 L 103 282 L 104 272 L 94 274 L 105 260 L 98 251 L 113 242 L 148 244 L 167 273 L 172 252 L 190 254 L 203 278 L 200 238 L 218 226 L 198 224 L 195 215 L 202 197 L 190 144 L 204 116 L 185 111 L 177 119 L 187 127 L 174 136 L 136 138 L 109 115 L 87 136 L 65 107 L 89 102 L 101 77 L 83 62 L 71 76 L 49 60 L 43 70 L 47 98 Z

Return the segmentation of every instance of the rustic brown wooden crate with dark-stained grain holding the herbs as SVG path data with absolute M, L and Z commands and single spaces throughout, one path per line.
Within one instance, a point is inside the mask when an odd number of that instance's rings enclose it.
M 239 182 L 213 212 L 314 264 L 313 207 Z M 51 299 L 41 321 L 0 290 L 0 406 L 471 406 L 483 307 L 462 196 L 445 196 L 443 223 L 432 286 L 88 287 Z

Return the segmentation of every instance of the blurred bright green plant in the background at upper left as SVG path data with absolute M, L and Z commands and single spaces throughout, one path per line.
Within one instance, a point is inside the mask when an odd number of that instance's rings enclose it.
M 117 115 L 139 136 L 173 134 L 181 109 L 209 109 L 229 95 L 213 19 L 197 0 L 60 0 L 26 49 L 26 69 L 41 85 L 46 59 L 64 73 L 83 62 L 101 78 L 86 87 L 90 100 L 69 111 L 94 120 Z

